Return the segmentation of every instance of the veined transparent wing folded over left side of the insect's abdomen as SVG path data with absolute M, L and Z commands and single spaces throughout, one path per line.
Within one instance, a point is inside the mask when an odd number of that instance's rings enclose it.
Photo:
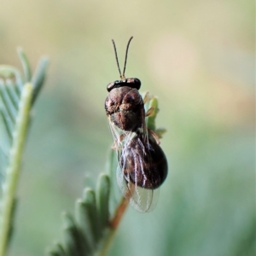
M 125 144 L 119 150 L 117 181 L 122 194 L 138 212 L 149 212 L 158 201 L 159 189 L 155 180 L 160 180 L 159 173 L 154 172 L 154 158 L 141 137 L 125 137 Z

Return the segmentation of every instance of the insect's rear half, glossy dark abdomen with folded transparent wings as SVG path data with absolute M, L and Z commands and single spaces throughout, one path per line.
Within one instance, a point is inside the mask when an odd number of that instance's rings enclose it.
M 112 148 L 119 160 L 119 189 L 138 212 L 152 211 L 158 201 L 158 188 L 167 174 L 165 154 L 143 128 L 137 132 L 123 131 L 110 120 L 109 127 L 113 136 Z

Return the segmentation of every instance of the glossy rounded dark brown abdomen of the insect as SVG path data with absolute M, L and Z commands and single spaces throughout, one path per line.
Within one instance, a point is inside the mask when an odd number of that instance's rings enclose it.
M 143 189 L 157 189 L 167 176 L 166 155 L 154 139 L 143 143 L 137 136 L 122 149 L 119 164 L 125 181 Z

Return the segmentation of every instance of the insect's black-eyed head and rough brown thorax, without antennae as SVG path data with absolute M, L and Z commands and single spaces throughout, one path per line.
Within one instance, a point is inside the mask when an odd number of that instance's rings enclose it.
M 139 79 L 124 79 L 108 84 L 105 110 L 114 125 L 123 131 L 137 131 L 145 119 Z

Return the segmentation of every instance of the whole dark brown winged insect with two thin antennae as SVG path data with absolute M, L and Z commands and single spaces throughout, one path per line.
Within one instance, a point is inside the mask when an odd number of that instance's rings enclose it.
M 123 73 L 120 72 L 117 50 L 112 40 L 120 80 L 108 84 L 105 110 L 113 135 L 113 149 L 118 154 L 119 189 L 137 211 L 148 212 L 157 201 L 159 187 L 167 176 L 168 165 L 166 155 L 159 146 L 159 137 L 146 125 L 146 117 L 153 112 L 149 108 L 145 113 L 144 103 L 148 101 L 148 94 L 144 99 L 139 94 L 139 79 L 125 79 L 131 39 L 126 47 Z

